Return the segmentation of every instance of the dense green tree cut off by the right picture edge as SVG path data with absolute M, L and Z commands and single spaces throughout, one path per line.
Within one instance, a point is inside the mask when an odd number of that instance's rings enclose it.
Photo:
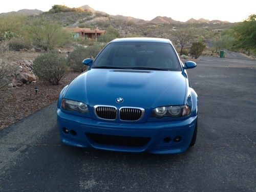
M 234 26 L 233 30 L 237 48 L 256 52 L 256 14 L 250 15 L 244 22 Z

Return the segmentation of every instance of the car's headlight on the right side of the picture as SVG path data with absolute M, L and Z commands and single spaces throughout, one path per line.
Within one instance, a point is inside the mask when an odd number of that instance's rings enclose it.
M 190 112 L 191 111 L 188 105 L 160 106 L 159 108 L 155 108 L 153 110 L 152 117 L 185 117 L 188 116 Z

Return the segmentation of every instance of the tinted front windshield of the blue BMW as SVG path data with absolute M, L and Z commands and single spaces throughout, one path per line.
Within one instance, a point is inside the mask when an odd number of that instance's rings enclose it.
M 181 71 L 173 47 L 159 42 L 112 42 L 92 68 Z

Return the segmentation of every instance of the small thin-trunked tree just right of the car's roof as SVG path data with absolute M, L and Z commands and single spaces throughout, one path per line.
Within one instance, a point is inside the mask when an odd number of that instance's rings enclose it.
M 173 35 L 178 39 L 181 45 L 180 55 L 182 55 L 182 50 L 187 42 L 195 37 L 195 29 L 184 28 L 173 31 Z

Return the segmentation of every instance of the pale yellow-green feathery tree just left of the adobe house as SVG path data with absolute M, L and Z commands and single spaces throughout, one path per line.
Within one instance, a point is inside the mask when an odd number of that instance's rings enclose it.
M 54 20 L 47 20 L 45 17 L 35 18 L 26 26 L 27 38 L 32 44 L 52 50 L 56 46 L 63 46 L 71 39 L 71 33 L 63 29 Z

